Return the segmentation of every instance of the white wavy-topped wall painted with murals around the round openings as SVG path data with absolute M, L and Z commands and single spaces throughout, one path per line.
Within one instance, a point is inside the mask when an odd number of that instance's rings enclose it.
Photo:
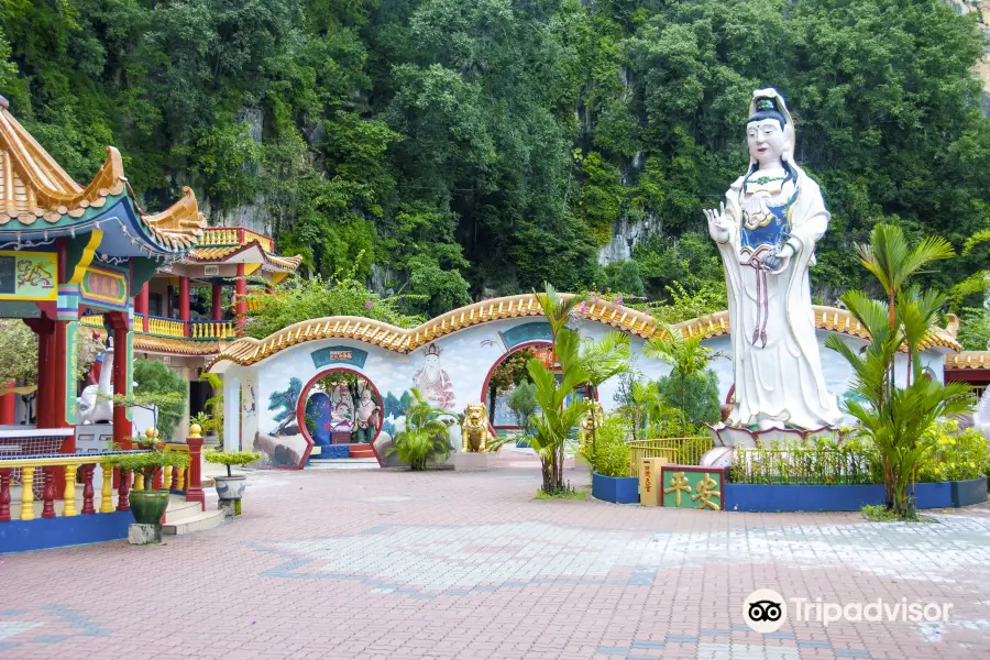
M 601 340 L 610 330 L 594 321 L 576 320 L 573 324 L 584 337 L 594 340 Z M 254 438 L 255 449 L 262 451 L 273 465 L 289 465 L 295 460 L 296 465 L 301 466 L 308 447 L 296 414 L 301 388 L 321 372 L 340 365 L 367 378 L 382 395 L 382 432 L 375 439 L 374 448 L 380 460 L 389 464 L 391 461 L 385 458 L 386 451 L 395 435 L 405 427 L 405 413 L 411 398 L 409 392 L 414 387 L 419 387 L 431 404 L 460 414 L 468 403 L 486 400 L 487 374 L 513 348 L 544 340 L 548 331 L 546 322 L 532 318 L 505 319 L 459 330 L 409 354 L 359 340 L 331 339 L 294 345 L 250 367 L 233 365 L 229 377 L 239 378 L 243 389 L 251 384 L 260 403 L 256 419 L 250 420 L 245 416 L 242 420 L 244 443 L 249 444 L 249 439 Z M 828 331 L 816 331 L 823 373 L 829 391 L 844 396 L 849 389 L 853 373 L 845 360 L 824 349 L 824 339 L 828 334 Z M 854 349 L 865 343 L 855 337 L 840 337 Z M 715 351 L 730 352 L 727 334 L 705 340 L 704 344 Z M 636 369 L 642 378 L 657 380 L 670 373 L 667 364 L 642 355 L 641 339 L 634 337 L 630 345 Z M 932 370 L 933 377 L 942 377 L 941 352 L 925 351 L 922 361 Z M 724 400 L 733 384 L 732 362 L 714 360 L 711 366 L 718 376 L 718 388 Z M 616 407 L 618 388 L 618 378 L 600 386 L 598 398 L 605 410 Z M 332 400 L 333 394 L 327 395 Z M 352 403 L 359 405 L 359 402 Z M 501 403 L 495 406 L 495 424 L 515 426 L 507 405 Z M 460 429 L 457 417 L 451 416 L 449 421 L 452 438 L 458 438 Z M 459 443 L 453 446 L 457 449 Z

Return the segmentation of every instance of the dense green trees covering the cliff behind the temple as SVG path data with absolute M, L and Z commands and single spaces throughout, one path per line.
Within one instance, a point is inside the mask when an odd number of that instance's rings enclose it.
M 145 206 L 182 185 L 215 221 L 253 206 L 304 273 L 432 315 L 543 280 L 721 287 L 701 209 L 773 86 L 833 213 L 828 302 L 878 221 L 957 248 L 988 229 L 982 47 L 939 0 L 3 0 L 0 92 L 77 179 L 114 144 Z M 605 272 L 619 221 L 653 238 Z

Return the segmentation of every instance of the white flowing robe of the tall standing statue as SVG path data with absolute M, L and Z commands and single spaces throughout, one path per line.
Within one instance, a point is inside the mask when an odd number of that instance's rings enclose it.
M 718 243 L 728 289 L 733 370 L 736 378 L 732 426 L 746 427 L 762 419 L 784 421 L 802 429 L 836 426 L 842 420 L 835 396 L 822 374 L 807 270 L 814 264 L 815 243 L 828 228 L 822 191 L 803 170 L 798 172 L 798 199 L 790 209 L 790 244 L 795 249 L 780 273 L 766 273 L 766 345 L 754 343 L 758 327 L 758 271 L 740 264 L 743 228 L 739 177 L 726 194 L 732 219 L 728 240 Z M 759 332 L 757 332 L 759 334 Z

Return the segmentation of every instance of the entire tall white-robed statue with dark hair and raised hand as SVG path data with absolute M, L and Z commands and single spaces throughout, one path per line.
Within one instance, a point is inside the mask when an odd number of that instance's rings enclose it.
M 754 92 L 749 169 L 705 211 L 728 289 L 736 402 L 727 424 L 818 429 L 842 420 L 825 386 L 809 266 L 829 213 L 793 160 L 794 123 L 774 89 Z

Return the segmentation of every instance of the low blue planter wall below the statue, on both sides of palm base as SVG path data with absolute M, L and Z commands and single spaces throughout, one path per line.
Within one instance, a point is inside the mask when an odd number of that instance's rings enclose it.
M 953 508 L 987 502 L 987 477 L 924 483 L 915 486 L 920 509 Z M 798 485 L 726 484 L 728 512 L 858 512 L 866 505 L 882 505 L 882 484 Z

